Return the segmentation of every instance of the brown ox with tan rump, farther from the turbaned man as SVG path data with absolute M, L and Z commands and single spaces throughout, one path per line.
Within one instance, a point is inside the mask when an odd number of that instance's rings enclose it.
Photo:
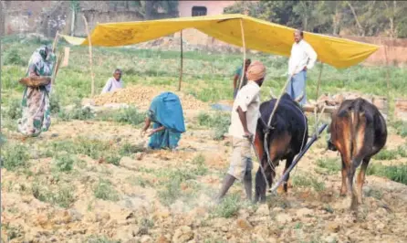
M 386 143 L 386 122 L 369 101 L 345 100 L 332 114 L 330 133 L 333 150 L 337 149 L 342 158 L 340 195 L 348 192 L 352 196 L 350 208 L 356 210 L 362 203 L 362 186 L 370 158 Z M 357 187 L 353 188 L 353 177 L 360 164 Z

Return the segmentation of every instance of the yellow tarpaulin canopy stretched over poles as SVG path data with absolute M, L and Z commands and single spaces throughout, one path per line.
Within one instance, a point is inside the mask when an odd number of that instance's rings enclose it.
M 98 24 L 90 35 L 92 46 L 118 47 L 165 37 L 195 28 L 210 37 L 243 47 L 289 57 L 294 29 L 243 15 L 181 17 L 151 21 Z M 89 45 L 88 38 L 63 36 L 72 45 Z M 368 58 L 379 47 L 339 37 L 305 32 L 304 38 L 318 53 L 318 60 L 336 68 L 348 68 Z

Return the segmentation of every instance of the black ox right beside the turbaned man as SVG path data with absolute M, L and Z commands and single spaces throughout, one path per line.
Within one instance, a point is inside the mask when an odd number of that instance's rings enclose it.
M 277 111 L 271 121 L 266 147 L 268 149 L 270 163 L 267 162 L 264 140 L 267 131 L 267 122 L 276 104 L 276 99 L 268 100 L 260 105 L 261 118 L 257 122 L 255 147 L 263 167 L 266 180 L 271 186 L 276 176 L 275 168 L 280 160 L 286 160 L 284 172 L 292 163 L 294 157 L 306 145 L 308 139 L 308 120 L 304 112 L 294 100 L 286 93 L 281 97 Z M 271 166 L 270 166 L 271 164 Z M 283 173 L 284 174 L 284 173 Z M 284 181 L 284 191 L 287 192 L 287 181 Z M 256 173 L 256 196 L 255 201 L 266 200 L 266 181 L 259 167 Z

